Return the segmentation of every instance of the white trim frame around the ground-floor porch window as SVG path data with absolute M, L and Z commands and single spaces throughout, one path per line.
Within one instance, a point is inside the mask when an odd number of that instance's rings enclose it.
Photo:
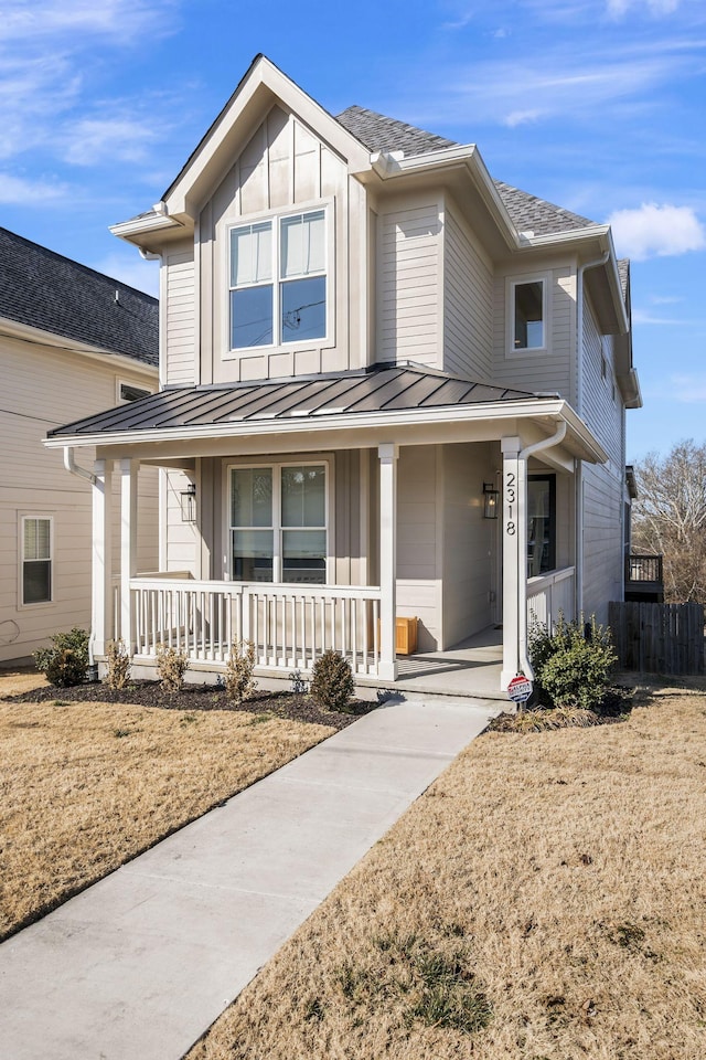
M 306 457 L 302 456 L 300 459 L 297 459 L 296 456 L 288 456 L 286 460 L 272 460 L 268 457 L 261 457 L 256 459 L 243 459 L 243 460 L 229 460 L 224 467 L 224 477 L 225 477 L 225 519 L 224 519 L 224 542 L 225 542 L 225 554 L 224 554 L 224 576 L 226 581 L 238 582 L 239 580 L 233 577 L 233 549 L 231 547 L 231 530 L 233 529 L 231 523 L 231 471 L 233 469 L 247 470 L 248 468 L 263 468 L 270 467 L 272 471 L 277 474 L 272 475 L 272 534 L 274 534 L 274 544 L 272 544 L 272 581 L 263 582 L 263 585 L 281 585 L 289 584 L 282 583 L 281 581 L 281 571 L 282 571 L 282 524 L 281 524 L 281 469 L 284 467 L 307 467 L 313 466 L 317 464 L 323 464 L 327 469 L 327 481 L 325 481 L 325 500 L 324 500 L 324 510 L 327 515 L 327 523 L 324 527 L 327 534 L 327 580 L 324 585 L 335 585 L 335 553 L 333 551 L 333 543 L 335 540 L 335 527 L 334 527 L 334 505 L 333 500 L 335 497 L 333 489 L 333 476 L 334 476 L 334 458 L 332 453 L 321 453 L 317 456 L 311 453 L 307 453 Z M 268 528 L 263 528 L 268 529 Z M 259 584 L 259 583 L 258 583 Z M 322 587 L 317 582 L 302 582 L 297 583 L 300 587 Z

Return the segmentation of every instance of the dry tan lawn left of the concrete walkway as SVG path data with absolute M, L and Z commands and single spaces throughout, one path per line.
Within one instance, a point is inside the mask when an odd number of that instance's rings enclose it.
M 44 685 L 0 676 L 0 696 Z M 231 711 L 0 702 L 0 937 L 333 730 Z

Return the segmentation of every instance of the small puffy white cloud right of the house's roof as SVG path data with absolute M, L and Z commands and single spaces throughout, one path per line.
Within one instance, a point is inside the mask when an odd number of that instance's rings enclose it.
M 643 203 L 638 210 L 617 210 L 608 218 L 621 256 L 644 261 L 671 257 L 706 247 L 706 229 L 691 206 Z

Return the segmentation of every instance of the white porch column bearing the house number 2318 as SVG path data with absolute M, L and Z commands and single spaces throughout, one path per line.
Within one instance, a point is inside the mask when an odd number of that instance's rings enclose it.
M 526 629 L 526 615 L 520 607 L 526 596 L 521 592 L 527 576 L 525 561 L 526 475 L 521 459 L 520 438 L 501 439 L 503 454 L 503 668 L 500 687 L 504 690 L 521 668 L 520 644 Z M 526 603 L 524 605 L 526 607 Z

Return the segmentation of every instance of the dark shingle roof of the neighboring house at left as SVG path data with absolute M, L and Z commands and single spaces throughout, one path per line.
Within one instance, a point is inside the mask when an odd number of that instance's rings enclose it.
M 0 227 L 0 317 L 157 367 L 158 316 L 157 298 Z

